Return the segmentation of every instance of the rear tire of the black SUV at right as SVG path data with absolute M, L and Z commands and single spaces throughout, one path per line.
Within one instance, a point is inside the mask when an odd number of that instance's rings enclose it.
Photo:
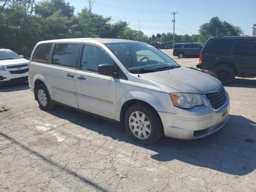
M 216 72 L 223 85 L 232 83 L 236 77 L 234 68 L 228 64 L 219 64 L 213 68 L 213 71 Z

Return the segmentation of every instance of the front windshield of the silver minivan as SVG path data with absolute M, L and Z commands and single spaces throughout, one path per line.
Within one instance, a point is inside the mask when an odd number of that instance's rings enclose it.
M 116 55 L 131 73 L 148 73 L 180 67 L 174 60 L 146 43 L 107 43 L 106 46 Z

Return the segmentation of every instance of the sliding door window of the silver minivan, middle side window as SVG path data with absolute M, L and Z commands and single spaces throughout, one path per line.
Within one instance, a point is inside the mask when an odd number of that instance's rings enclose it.
M 56 44 L 52 64 L 76 68 L 80 44 Z

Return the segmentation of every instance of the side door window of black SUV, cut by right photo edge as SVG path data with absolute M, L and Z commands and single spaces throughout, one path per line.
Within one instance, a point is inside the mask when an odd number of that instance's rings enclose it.
M 234 55 L 256 56 L 256 40 L 236 40 Z

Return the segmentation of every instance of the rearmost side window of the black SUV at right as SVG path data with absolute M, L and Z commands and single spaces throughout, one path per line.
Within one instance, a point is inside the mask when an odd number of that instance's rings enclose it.
M 206 54 L 229 54 L 233 44 L 234 40 L 232 39 L 212 39 Z

